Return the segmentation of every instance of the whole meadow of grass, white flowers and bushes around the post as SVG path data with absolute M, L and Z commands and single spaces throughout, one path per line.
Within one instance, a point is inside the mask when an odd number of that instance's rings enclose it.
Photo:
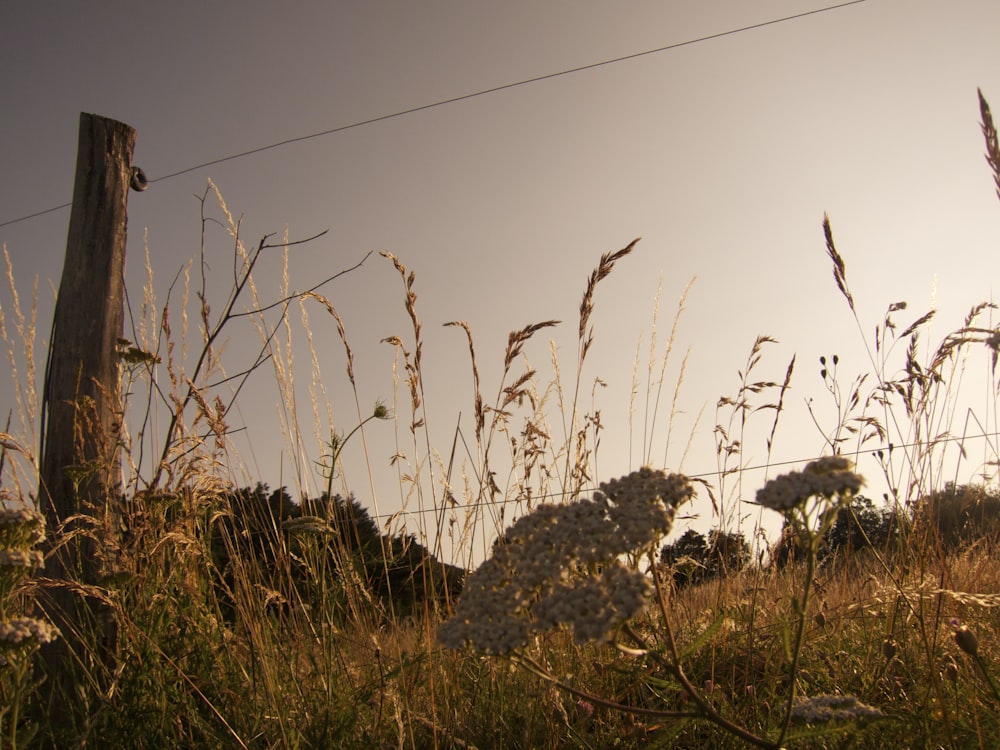
M 982 98 L 981 116 L 1000 197 L 1000 146 Z M 221 196 L 210 188 L 205 200 L 227 217 L 229 299 L 215 313 L 199 301 L 189 322 L 197 283 L 158 307 L 150 274 L 134 340 L 120 351 L 121 493 L 56 528 L 35 507 L 37 301 L 22 306 L 7 258 L 12 304 L 0 335 L 20 414 L 0 458 L 2 747 L 1000 746 L 996 435 L 975 480 L 956 482 L 942 449 L 964 451 L 956 405 L 970 362 L 989 372 L 979 416 L 996 425 L 991 302 L 970 301 L 964 324 L 935 343 L 924 340 L 931 314 L 890 304 L 865 341 L 867 370 L 845 381 L 836 358 L 814 363 L 838 415 L 822 458 L 757 484 L 742 476 L 739 425 L 769 415 L 753 438 L 769 447 L 798 376 L 793 359 L 783 380 L 755 379 L 761 336 L 748 342 L 738 391 L 717 405 L 714 479 L 655 466 L 595 476 L 602 424 L 584 406 L 582 373 L 596 290 L 633 242 L 593 269 L 576 361 L 554 359 L 549 379 L 524 347 L 552 321 L 510 334 L 492 393 L 481 391 L 473 331 L 451 324 L 467 338 L 474 383 L 474 461 L 459 468 L 432 459 L 449 450 L 426 428 L 415 273 L 386 255 L 412 327 L 388 342 L 398 394 L 365 405 L 333 302 L 314 290 L 288 297 L 277 324 L 267 318 L 254 269 L 268 240 L 245 247 Z M 828 220 L 822 229 L 834 283 L 859 332 L 870 331 L 857 318 L 849 253 Z M 282 345 L 304 298 L 335 321 L 357 418 L 343 434 L 313 430 L 326 486 L 292 497 L 266 478 L 234 480 L 227 415 L 241 379 L 266 369 L 285 394 L 287 440 L 323 424 L 322 390 L 312 390 L 312 414 L 295 410 L 295 363 Z M 232 375 L 216 342 L 241 310 L 256 321 L 261 355 L 230 365 Z M 666 429 L 676 403 L 646 396 Z M 381 525 L 338 485 L 344 446 L 380 421 L 395 424 L 399 481 L 430 519 L 418 528 Z M 555 423 L 568 425 L 564 438 Z M 866 495 L 883 485 L 881 497 Z M 715 528 L 671 535 L 693 496 L 715 508 Z M 734 527 L 734 498 L 780 513 L 781 536 Z M 47 576 L 46 556 L 83 539 L 97 573 Z M 80 603 L 70 622 L 54 609 L 67 592 Z M 55 648 L 60 659 L 43 658 Z

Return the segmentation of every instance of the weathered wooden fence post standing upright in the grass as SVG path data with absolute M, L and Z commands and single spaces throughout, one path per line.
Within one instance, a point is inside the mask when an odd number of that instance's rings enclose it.
M 57 729 L 68 728 L 72 716 L 72 663 L 88 660 L 74 630 L 81 616 L 94 614 L 74 585 L 97 583 L 100 561 L 88 534 L 114 515 L 121 492 L 117 342 L 135 139 L 128 125 L 80 115 L 73 207 L 42 398 L 38 491 L 50 540 L 45 576 L 53 581 L 45 587 L 43 606 L 63 634 L 44 652 L 52 690 L 48 718 Z M 84 517 L 92 520 L 74 520 Z

